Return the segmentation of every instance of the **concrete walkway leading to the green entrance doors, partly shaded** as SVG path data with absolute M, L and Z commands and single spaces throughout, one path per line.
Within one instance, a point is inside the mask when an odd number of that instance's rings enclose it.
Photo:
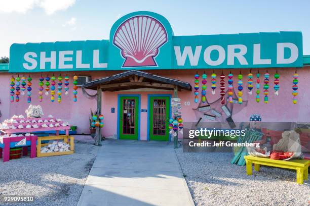
M 194 205 L 173 142 L 102 143 L 79 206 Z

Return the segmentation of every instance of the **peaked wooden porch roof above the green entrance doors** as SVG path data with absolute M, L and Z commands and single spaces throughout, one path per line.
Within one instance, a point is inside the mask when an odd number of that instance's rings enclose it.
M 174 87 L 191 91 L 191 85 L 187 82 L 137 70 L 93 80 L 83 84 L 82 88 L 97 90 L 99 86 L 102 91 L 121 91 L 139 88 L 173 90 Z

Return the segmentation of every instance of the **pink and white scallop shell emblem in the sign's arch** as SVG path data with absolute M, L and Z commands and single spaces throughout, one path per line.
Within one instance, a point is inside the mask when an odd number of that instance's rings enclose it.
M 121 49 L 123 67 L 156 67 L 154 58 L 167 42 L 165 27 L 149 16 L 135 16 L 123 22 L 114 34 L 113 44 Z

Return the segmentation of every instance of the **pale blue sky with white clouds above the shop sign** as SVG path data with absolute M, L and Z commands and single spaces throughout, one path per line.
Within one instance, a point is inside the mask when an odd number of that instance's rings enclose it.
M 163 15 L 176 36 L 301 31 L 310 55 L 308 0 L 0 0 L 0 57 L 12 43 L 108 39 L 112 24 L 135 11 Z

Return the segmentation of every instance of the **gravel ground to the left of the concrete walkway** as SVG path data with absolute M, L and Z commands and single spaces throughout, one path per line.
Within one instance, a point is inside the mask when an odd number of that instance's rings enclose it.
M 95 160 L 93 140 L 75 141 L 73 155 L 29 159 L 6 163 L 0 160 L 0 197 L 34 195 L 31 203 L 0 205 L 76 205 Z M 2 199 L 2 198 L 1 198 Z

